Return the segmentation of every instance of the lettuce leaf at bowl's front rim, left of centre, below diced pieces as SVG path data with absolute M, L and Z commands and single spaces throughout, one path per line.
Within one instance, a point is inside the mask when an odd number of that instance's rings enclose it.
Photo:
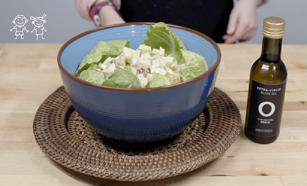
M 118 88 L 144 88 L 137 75 L 120 67 L 116 67 L 114 74 L 106 79 L 102 85 Z

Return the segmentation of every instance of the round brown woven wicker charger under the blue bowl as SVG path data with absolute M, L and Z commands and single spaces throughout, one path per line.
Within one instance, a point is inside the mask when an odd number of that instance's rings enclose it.
M 33 131 L 40 149 L 65 167 L 105 179 L 145 181 L 205 165 L 230 147 L 240 126 L 238 108 L 215 88 L 204 111 L 181 134 L 155 144 L 124 144 L 87 125 L 60 87 L 37 110 Z

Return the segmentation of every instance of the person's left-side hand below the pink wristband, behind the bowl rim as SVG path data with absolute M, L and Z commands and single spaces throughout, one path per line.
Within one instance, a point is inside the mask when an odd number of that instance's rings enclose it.
M 102 26 L 122 24 L 125 22 L 113 6 L 103 6 L 99 10 L 99 17 Z

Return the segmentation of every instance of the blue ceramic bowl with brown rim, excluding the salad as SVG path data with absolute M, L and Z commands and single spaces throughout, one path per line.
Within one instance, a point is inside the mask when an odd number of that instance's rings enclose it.
M 127 143 L 152 143 L 183 131 L 205 108 L 214 88 L 221 52 L 206 35 L 169 25 L 187 50 L 205 57 L 209 71 L 192 80 L 157 88 L 114 88 L 74 76 L 98 41 L 130 40 L 137 49 L 149 26 L 133 22 L 84 32 L 65 43 L 58 65 L 67 94 L 81 117 L 104 136 Z

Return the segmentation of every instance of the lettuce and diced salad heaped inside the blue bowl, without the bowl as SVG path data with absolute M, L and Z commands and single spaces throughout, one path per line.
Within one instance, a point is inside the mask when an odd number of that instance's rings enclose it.
M 137 49 L 129 40 L 99 41 L 75 75 L 118 88 L 154 88 L 188 81 L 208 71 L 205 58 L 188 51 L 164 22 L 150 26 Z

